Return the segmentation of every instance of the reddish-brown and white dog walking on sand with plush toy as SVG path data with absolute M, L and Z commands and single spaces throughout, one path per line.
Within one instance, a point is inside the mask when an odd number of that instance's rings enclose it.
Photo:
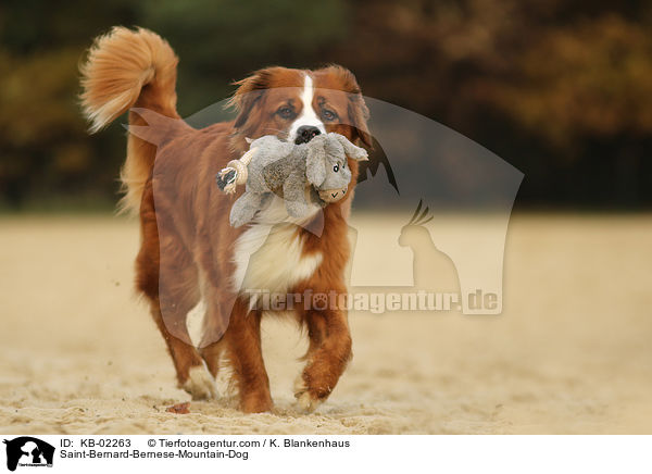
M 170 45 L 154 33 L 115 27 L 96 40 L 82 67 L 83 105 L 91 132 L 131 108 L 170 117 L 151 139 L 128 136 L 121 178 L 124 208 L 140 212 L 136 286 L 150 302 L 180 387 L 195 399 L 215 396 L 215 377 L 225 356 L 241 410 L 267 411 L 273 402 L 261 352 L 263 313 L 242 289 L 347 291 L 347 220 L 358 163 L 348 160 L 352 179 L 347 198 L 323 212 L 316 208 L 311 216 L 323 220 L 321 235 L 306 229 L 310 223 L 283 222 L 287 215 L 279 198 L 252 225 L 230 227 L 233 199 L 220 192 L 215 175 L 248 149 L 246 138 L 274 134 L 302 142 L 336 132 L 371 146 L 368 110 L 355 77 L 343 67 L 268 67 L 236 83 L 239 87 L 230 100 L 238 111 L 235 121 L 195 129 L 176 111 L 177 61 Z M 142 114 L 131 111 L 129 126 L 143 125 L 148 122 Z M 198 349 L 190 341 L 186 319 L 202 302 L 204 336 Z M 297 305 L 292 314 L 310 339 L 296 396 L 302 408 L 313 410 L 330 395 L 351 358 L 348 315 L 330 305 L 319 310 Z

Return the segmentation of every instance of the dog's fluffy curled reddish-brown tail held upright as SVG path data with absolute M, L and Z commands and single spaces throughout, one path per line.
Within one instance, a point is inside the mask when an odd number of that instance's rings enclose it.
M 153 110 L 178 118 L 176 112 L 176 67 L 178 59 L 159 35 L 148 29 L 114 27 L 98 37 L 82 65 L 82 107 L 96 133 L 131 107 Z M 146 87 L 147 86 L 147 87 Z M 129 125 L 147 125 L 136 113 Z M 140 207 L 142 188 L 153 167 L 156 147 L 133 134 L 121 172 L 125 197 L 122 210 Z

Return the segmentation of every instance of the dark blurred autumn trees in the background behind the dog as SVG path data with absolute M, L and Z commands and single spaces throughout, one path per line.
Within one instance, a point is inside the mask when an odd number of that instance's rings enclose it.
M 652 3 L 631 0 L 5 0 L 0 208 L 110 208 L 125 140 L 86 134 L 78 64 L 113 25 L 165 37 L 183 116 L 272 64 L 351 68 L 364 93 L 525 173 L 518 208 L 652 204 Z

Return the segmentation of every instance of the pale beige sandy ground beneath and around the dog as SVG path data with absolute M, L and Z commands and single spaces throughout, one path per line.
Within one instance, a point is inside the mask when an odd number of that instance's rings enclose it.
M 649 215 L 514 216 L 503 314 L 351 313 L 353 362 L 309 415 L 285 323 L 264 327 L 273 413 L 165 412 L 189 397 L 134 297 L 137 241 L 111 216 L 0 219 L 0 433 L 652 433 Z

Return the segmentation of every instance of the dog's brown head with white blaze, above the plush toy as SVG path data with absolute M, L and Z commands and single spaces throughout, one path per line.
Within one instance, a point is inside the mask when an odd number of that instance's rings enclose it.
M 229 101 L 238 115 L 233 146 L 242 152 L 244 138 L 276 135 L 296 144 L 335 132 L 352 142 L 372 145 L 368 109 L 355 76 L 331 65 L 316 71 L 267 67 L 236 83 Z

